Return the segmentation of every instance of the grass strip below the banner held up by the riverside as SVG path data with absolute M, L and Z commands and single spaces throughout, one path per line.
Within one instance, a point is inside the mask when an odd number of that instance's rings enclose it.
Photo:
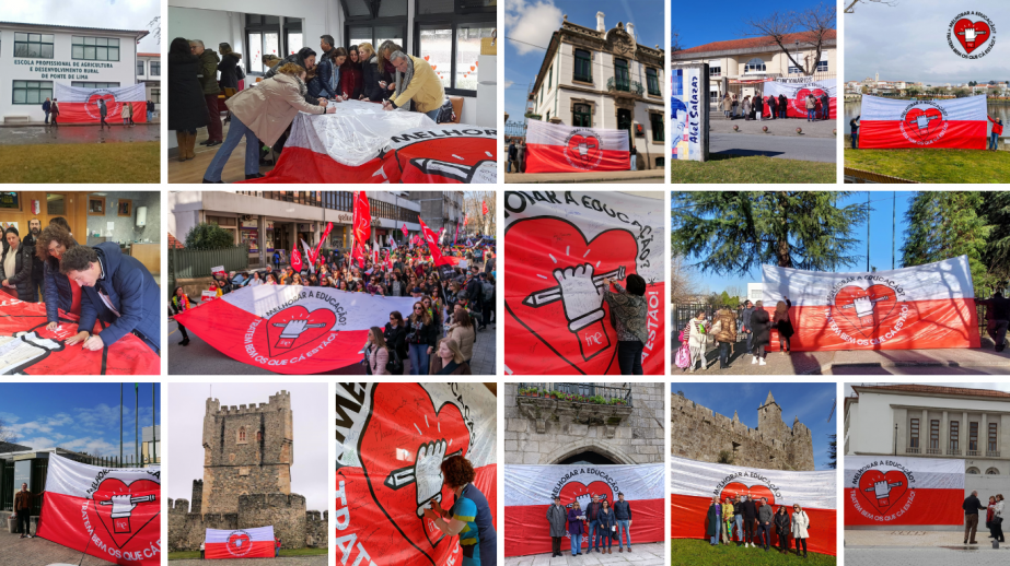
M 919 182 L 1008 182 L 1010 152 L 982 150 L 852 150 L 845 166 Z

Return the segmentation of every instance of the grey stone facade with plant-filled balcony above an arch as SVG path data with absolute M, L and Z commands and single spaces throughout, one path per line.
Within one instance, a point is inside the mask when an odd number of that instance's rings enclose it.
M 521 393 L 533 388 L 610 404 Z M 664 460 L 663 384 L 506 384 L 504 391 L 507 464 Z

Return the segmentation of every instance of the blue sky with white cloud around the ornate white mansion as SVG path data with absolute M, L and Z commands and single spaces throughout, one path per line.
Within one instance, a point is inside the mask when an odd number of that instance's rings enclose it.
M 666 24 L 659 16 L 665 12 L 662 0 L 508 0 L 506 7 L 506 111 L 509 121 L 522 121 L 526 108 L 526 89 L 544 62 L 550 34 L 561 27 L 562 16 L 585 27 L 596 28 L 596 12 L 603 12 L 607 30 L 617 22 L 635 24 L 638 43 L 665 49 Z M 512 39 L 509 39 L 509 38 Z M 518 39 L 524 43 L 518 43 Z M 532 45 L 527 45 L 532 44 Z M 539 46 L 543 49 L 534 47 Z

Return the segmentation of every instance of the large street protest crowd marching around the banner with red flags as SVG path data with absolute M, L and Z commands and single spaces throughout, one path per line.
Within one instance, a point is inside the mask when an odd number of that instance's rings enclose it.
M 414 297 L 411 313 L 394 310 L 383 327 L 369 330 L 361 361 L 365 374 L 472 375 L 478 333 L 497 320 L 495 247 L 484 241 L 469 248 L 443 247 L 443 256 L 458 260 L 449 276 L 439 272 L 422 246 L 384 250 L 367 258 L 363 267 L 347 250 L 328 250 L 320 253 L 311 270 L 305 264 L 301 271 L 290 263 L 275 269 L 282 259 L 278 250 L 263 270 L 216 274 L 209 291 L 220 297 L 245 286 L 302 285 Z M 196 305 L 185 290 L 176 287 L 170 316 Z M 185 346 L 188 332 L 182 325 L 178 328 L 179 344 Z

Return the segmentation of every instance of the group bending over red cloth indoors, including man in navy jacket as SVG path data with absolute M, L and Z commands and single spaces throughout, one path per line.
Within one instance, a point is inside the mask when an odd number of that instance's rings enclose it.
M 60 310 L 78 316 L 78 333 L 67 345 L 98 351 L 133 334 L 155 353 L 161 351 L 154 278 L 114 241 L 78 244 L 62 216 L 44 229 L 38 219 L 30 220 L 23 240 L 18 228 L 4 231 L 0 288 L 25 303 L 45 303 L 49 331 L 71 321 L 61 319 Z M 107 327 L 93 334 L 100 320 Z

